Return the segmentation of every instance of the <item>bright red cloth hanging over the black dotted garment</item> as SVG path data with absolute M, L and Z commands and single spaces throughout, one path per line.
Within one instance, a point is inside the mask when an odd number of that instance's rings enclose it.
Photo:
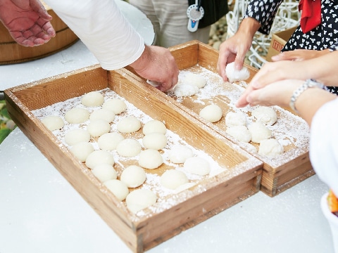
M 301 30 L 305 34 L 320 25 L 322 20 L 320 0 L 300 0 L 298 9 L 301 11 Z

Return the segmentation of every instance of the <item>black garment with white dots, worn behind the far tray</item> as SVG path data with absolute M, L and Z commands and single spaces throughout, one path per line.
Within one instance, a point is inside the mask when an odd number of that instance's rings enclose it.
M 282 51 L 324 50 L 327 48 L 336 51 L 338 49 L 338 0 L 322 0 L 321 2 L 322 20 L 320 25 L 306 34 L 303 34 L 300 26 L 297 27 Z M 261 23 L 258 31 L 269 34 L 280 4 L 282 4 L 282 0 L 251 0 L 244 18 L 255 18 Z M 328 88 L 338 94 L 338 87 Z

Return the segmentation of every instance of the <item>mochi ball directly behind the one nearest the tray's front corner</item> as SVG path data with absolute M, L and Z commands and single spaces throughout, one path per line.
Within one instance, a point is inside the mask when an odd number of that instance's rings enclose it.
M 123 181 L 128 188 L 139 187 L 146 181 L 146 172 L 142 167 L 130 165 L 123 169 L 120 181 Z

